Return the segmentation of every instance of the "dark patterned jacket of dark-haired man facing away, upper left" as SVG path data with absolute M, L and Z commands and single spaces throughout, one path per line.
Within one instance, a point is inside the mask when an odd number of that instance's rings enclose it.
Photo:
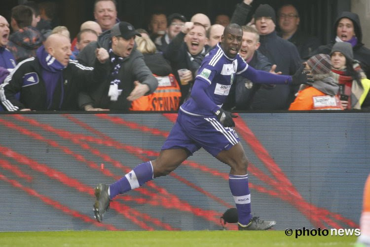
M 42 45 L 42 34 L 34 27 L 25 27 L 9 37 L 7 48 L 13 53 L 17 63 L 36 56 L 36 50 Z

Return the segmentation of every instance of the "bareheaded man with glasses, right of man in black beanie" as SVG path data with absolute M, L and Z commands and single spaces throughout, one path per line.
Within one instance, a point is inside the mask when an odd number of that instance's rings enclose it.
M 278 18 L 281 30 L 278 35 L 284 40 L 294 43 L 298 49 L 300 58 L 306 60 L 309 54 L 319 47 L 319 39 L 298 30 L 300 22 L 299 13 L 292 4 L 286 4 L 280 7 Z

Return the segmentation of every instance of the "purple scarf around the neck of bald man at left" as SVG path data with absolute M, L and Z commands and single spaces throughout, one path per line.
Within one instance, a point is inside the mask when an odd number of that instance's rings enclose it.
M 45 82 L 46 88 L 46 105 L 47 109 L 50 109 L 53 102 L 53 94 L 58 83 L 61 87 L 61 97 L 59 102 L 59 109 L 62 107 L 64 98 L 64 86 L 63 86 L 63 70 L 66 68 L 52 55 L 46 52 L 45 47 L 41 45 L 37 49 L 37 58 L 42 66 L 42 79 Z

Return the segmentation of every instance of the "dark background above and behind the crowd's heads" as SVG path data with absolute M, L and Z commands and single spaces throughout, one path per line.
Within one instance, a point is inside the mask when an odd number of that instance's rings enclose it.
M 35 0 L 41 2 L 43 0 Z M 208 15 L 211 22 L 216 15 L 223 13 L 231 17 L 235 5 L 242 0 L 117 0 L 118 18 L 132 23 L 135 28 L 148 27 L 148 17 L 152 12 L 166 14 L 182 13 L 188 19 L 195 13 Z M 1 0 L 0 14 L 10 22 L 12 7 L 23 0 Z M 67 26 L 74 37 L 82 22 L 93 20 L 94 0 L 54 0 L 57 5 L 57 25 Z M 350 0 L 254 0 L 253 10 L 259 4 L 268 3 L 276 10 L 283 4 L 292 3 L 300 14 L 300 28 L 327 43 L 332 37 L 332 25 L 337 14 L 350 11 Z

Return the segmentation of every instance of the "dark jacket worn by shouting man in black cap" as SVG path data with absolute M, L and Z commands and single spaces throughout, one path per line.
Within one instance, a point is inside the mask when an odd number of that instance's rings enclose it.
M 83 50 L 78 54 L 78 61 L 84 65 L 92 66 L 96 59 L 95 49 L 103 47 L 107 50 L 110 49 L 111 30 L 104 32 L 99 36 L 98 41 L 89 43 Z M 111 62 L 107 62 L 106 70 L 111 75 L 113 65 Z M 134 81 L 139 81 L 142 84 L 147 84 L 149 87 L 150 94 L 158 86 L 158 82 L 152 75 L 148 66 L 145 64 L 143 54 L 136 49 L 136 45 L 131 51 L 131 54 L 124 58 L 121 68 L 118 72 L 118 77 L 121 83 L 118 84 L 118 89 L 122 90 L 121 95 L 118 96 L 117 101 L 111 101 L 108 96 L 110 87 L 110 76 L 106 77 L 106 80 L 102 81 L 98 88 L 93 91 L 86 91 L 79 95 L 79 107 L 83 109 L 86 105 L 92 105 L 94 108 L 104 108 L 110 110 L 121 110 L 128 111 L 131 102 L 126 98 L 130 95 L 134 89 Z

